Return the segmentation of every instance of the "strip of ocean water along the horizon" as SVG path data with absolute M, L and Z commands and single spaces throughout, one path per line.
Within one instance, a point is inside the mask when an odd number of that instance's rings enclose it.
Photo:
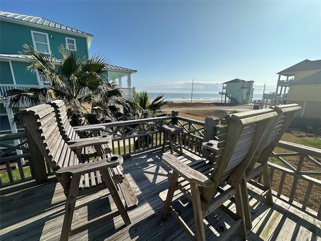
M 148 93 L 151 99 L 157 97 L 159 93 Z M 164 93 L 164 97 L 170 101 L 191 102 L 221 102 L 222 95 L 216 93 Z M 262 99 L 262 94 L 253 94 L 253 99 Z M 224 101 L 224 96 L 223 96 Z

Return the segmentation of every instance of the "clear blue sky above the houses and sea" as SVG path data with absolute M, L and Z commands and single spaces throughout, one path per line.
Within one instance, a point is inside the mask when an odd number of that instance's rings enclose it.
M 6 1 L 1 11 L 43 17 L 94 35 L 90 54 L 135 69 L 147 92 L 218 93 L 321 59 L 321 1 Z M 126 82 L 124 79 L 122 82 Z

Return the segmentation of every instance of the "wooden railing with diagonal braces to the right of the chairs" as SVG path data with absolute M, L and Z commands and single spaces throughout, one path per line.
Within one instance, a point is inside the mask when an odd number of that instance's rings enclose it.
M 276 150 L 279 163 L 268 163 L 276 196 L 321 220 L 321 149 L 280 141 Z

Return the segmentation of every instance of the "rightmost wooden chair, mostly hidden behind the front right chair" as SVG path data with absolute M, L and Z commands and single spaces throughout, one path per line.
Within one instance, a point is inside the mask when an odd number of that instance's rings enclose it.
M 245 209 L 246 226 L 249 228 L 252 228 L 251 209 L 264 197 L 266 197 L 269 204 L 273 204 L 267 161 L 285 130 L 291 123 L 296 111 L 300 110 L 301 107 L 298 104 L 285 104 L 274 106 L 273 109 L 278 114 L 277 121 L 272 127 L 270 127 L 270 135 L 267 136 L 267 140 L 265 142 L 260 144 L 257 150 L 258 155 L 252 159 L 246 170 L 246 182 L 249 182 L 262 190 L 261 197 L 252 205 L 252 207 L 249 205 L 249 200 L 244 199 L 245 202 L 243 206 Z M 253 180 L 254 177 L 258 176 L 263 177 L 262 184 Z M 260 179 L 261 178 L 259 178 L 259 181 Z M 245 186 L 243 187 L 243 192 L 247 192 L 247 188 Z

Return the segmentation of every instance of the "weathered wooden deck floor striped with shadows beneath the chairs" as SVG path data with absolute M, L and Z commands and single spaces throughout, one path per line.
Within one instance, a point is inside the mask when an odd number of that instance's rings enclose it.
M 119 217 L 70 236 L 69 240 L 188 240 L 183 228 L 170 214 L 166 221 L 161 214 L 163 203 L 159 192 L 168 188 L 168 167 L 161 161 L 161 149 L 137 154 L 124 161 L 124 174 L 139 200 L 138 207 L 128 212 L 132 223 L 125 226 Z M 178 155 L 178 154 L 177 154 Z M 190 157 L 189 157 L 189 156 Z M 182 161 L 199 159 L 185 151 Z M 65 196 L 56 178 L 49 183 L 1 192 L 1 240 L 59 240 L 64 218 Z M 251 187 L 252 188 L 252 187 Z M 255 203 L 256 189 L 249 191 L 250 203 Z M 108 191 L 78 198 L 72 226 L 91 220 L 115 205 Z M 321 221 L 273 197 L 274 205 L 266 202 L 253 211 L 253 228 L 248 240 L 321 240 Z M 181 200 L 184 203 L 184 200 Z M 233 205 L 227 204 L 229 208 Z M 185 210 L 185 209 L 184 209 Z M 183 212 L 183 210 L 182 210 Z M 224 232 L 228 223 L 221 210 L 207 217 L 207 237 L 213 240 L 216 229 Z M 182 214 L 193 222 L 190 212 Z M 241 240 L 237 233 L 230 239 Z

